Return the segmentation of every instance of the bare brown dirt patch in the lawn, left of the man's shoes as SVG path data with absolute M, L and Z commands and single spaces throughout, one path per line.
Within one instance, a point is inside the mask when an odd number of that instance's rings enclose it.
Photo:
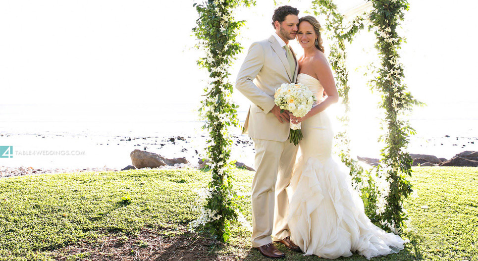
M 165 236 L 157 230 L 142 229 L 139 236 L 109 234 L 95 243 L 78 242 L 52 252 L 58 261 L 233 261 L 217 257 L 221 244 L 180 229 L 178 236 Z M 219 244 L 218 244 L 219 243 Z M 75 259 L 76 258 L 76 259 Z

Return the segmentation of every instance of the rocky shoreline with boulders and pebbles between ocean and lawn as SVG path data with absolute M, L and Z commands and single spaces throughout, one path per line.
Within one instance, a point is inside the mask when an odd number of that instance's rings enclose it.
M 28 147 L 30 147 L 31 144 L 41 144 L 43 141 L 46 143 L 56 142 L 57 144 L 67 144 L 68 148 L 74 149 L 77 148 L 77 144 L 88 144 L 88 146 L 90 146 L 86 147 L 88 153 L 90 153 L 90 151 L 97 152 L 97 155 L 89 156 L 89 158 L 86 159 L 82 157 L 26 157 L 15 155 L 14 158 L 17 158 L 20 164 L 17 163 L 17 166 L 0 166 L 0 178 L 45 173 L 120 171 L 137 168 L 203 168 L 206 166 L 202 158 L 205 157 L 204 147 L 207 137 L 201 134 L 169 137 L 85 136 L 78 134 L 1 134 L 0 136 L 2 138 L 10 138 L 11 140 L 7 140 L 3 145 L 13 144 L 15 145 L 16 151 L 21 148 L 16 145 L 18 143 L 20 145 L 27 144 Z M 448 138 L 449 137 L 445 136 L 444 139 Z M 470 145 L 474 145 L 474 142 L 469 140 L 470 138 L 463 139 L 463 141 L 468 141 Z M 72 141 L 76 141 L 77 143 L 71 143 L 70 145 L 69 142 Z M 464 146 L 465 145 L 463 145 L 463 147 Z M 245 135 L 233 136 L 232 147 L 231 159 L 238 161 L 236 162 L 236 166 L 254 171 L 254 169 L 250 167 L 254 164 L 255 155 L 252 140 Z M 127 159 L 128 154 L 131 159 L 129 165 L 125 163 L 129 161 Z M 111 157 L 105 157 L 105 155 Z M 167 155 L 171 158 L 162 155 Z M 478 152 L 476 151 L 464 151 L 456 154 L 454 157 L 450 157 L 450 159 L 427 154 L 410 155 L 413 158 L 414 166 L 478 166 Z M 448 154 L 448 156 L 449 155 L 450 154 Z M 90 158 L 96 160 L 96 164 L 89 164 L 89 162 L 93 162 Z M 379 164 L 378 158 L 357 158 L 372 166 Z M 50 159 L 52 163 L 39 164 L 48 161 L 48 159 Z M 114 161 L 111 161 L 111 159 Z M 5 159 L 5 161 L 1 163 L 9 163 L 8 160 L 9 159 Z M 21 164 L 23 162 L 30 163 L 25 166 Z M 81 162 L 86 162 L 85 165 L 90 165 L 90 167 L 81 167 L 83 165 Z M 57 163 L 63 163 L 63 165 Z M 109 164 L 108 167 L 105 164 Z

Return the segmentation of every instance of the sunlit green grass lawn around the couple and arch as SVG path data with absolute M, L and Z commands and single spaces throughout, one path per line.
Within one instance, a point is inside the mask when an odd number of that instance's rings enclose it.
M 237 170 L 236 189 L 250 192 L 253 174 Z M 195 190 L 208 178 L 149 169 L 0 179 L 0 260 L 269 260 L 238 223 L 225 246 L 185 232 Z M 411 180 L 403 237 L 412 242 L 372 260 L 478 261 L 478 168 L 414 167 Z M 250 196 L 242 205 L 251 220 Z M 279 249 L 285 260 L 323 260 Z

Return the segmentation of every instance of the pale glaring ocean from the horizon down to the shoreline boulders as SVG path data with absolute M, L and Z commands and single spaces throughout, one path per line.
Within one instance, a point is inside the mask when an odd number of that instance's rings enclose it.
M 241 108 L 244 107 L 247 104 Z M 410 137 L 410 153 L 450 158 L 462 151 L 478 151 L 478 117 L 475 118 L 473 114 L 443 117 L 439 113 L 428 116 L 426 110 L 418 111 L 410 119 L 410 124 L 417 132 Z M 333 111 L 332 108 L 331 115 Z M 246 113 L 245 109 L 238 111 L 241 122 Z M 379 120 L 370 115 L 354 115 L 361 113 L 355 113 L 351 118 L 352 154 L 379 157 L 380 149 L 383 148 L 383 144 L 377 142 L 381 133 Z M 336 123 L 335 121 L 335 126 Z M 131 151 L 144 149 L 144 144 L 120 142 L 120 139 L 127 137 L 150 137 L 148 139 L 153 139 L 158 144 L 169 137 L 192 137 L 190 143 L 182 145 L 189 147 L 153 146 L 149 147 L 149 151 L 161 152 L 166 157 L 199 157 L 198 153 L 192 152 L 204 153 L 202 150 L 208 134 L 201 130 L 202 125 L 197 106 L 191 104 L 0 105 L 0 134 L 4 134 L 0 137 L 0 146 L 14 146 L 16 151 L 23 152 L 74 150 L 87 154 L 86 157 L 18 155 L 14 159 L 0 158 L 0 165 L 106 165 L 121 168 L 131 164 Z M 233 134 L 240 139 L 248 139 L 246 135 L 241 135 L 239 129 L 233 129 Z M 244 150 L 233 147 L 232 155 L 252 166 L 252 148 Z M 182 153 L 183 149 L 189 154 Z

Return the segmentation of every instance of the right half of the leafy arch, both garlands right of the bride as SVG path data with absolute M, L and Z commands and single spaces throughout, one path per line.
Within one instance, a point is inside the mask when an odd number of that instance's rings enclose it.
M 403 200 L 412 192 L 406 176 L 411 176 L 413 161 L 406 148 L 409 135 L 415 134 L 405 116 L 406 111 L 410 111 L 414 105 L 422 105 L 402 83 L 403 65 L 398 62 L 398 51 L 403 38 L 397 34 L 396 28 L 403 21 L 409 4 L 407 0 L 368 1 L 372 2 L 372 11 L 355 17 L 349 24 L 345 24 L 343 15 L 337 11 L 332 0 L 314 0 L 313 4 L 315 14 L 327 18 L 324 27 L 332 42 L 329 60 L 336 74 L 337 90 L 345 106 L 345 113 L 339 118 L 344 130 L 335 137 L 342 146 L 340 156 L 351 168 L 354 188 L 361 192 L 369 218 L 383 229 L 399 233 L 407 220 L 406 210 L 402 207 Z M 386 145 L 381 150 L 381 164 L 374 169 L 375 174 L 363 169 L 357 164 L 357 160 L 350 157 L 347 134 L 350 87 L 347 84 L 348 71 L 345 66 L 345 41 L 352 42 L 357 32 L 366 27 L 375 33 L 375 48 L 381 60 L 381 67 L 372 69 L 376 74 L 369 84 L 381 94 L 379 107 L 385 110 L 385 124 L 382 128 L 386 133 L 380 140 Z

